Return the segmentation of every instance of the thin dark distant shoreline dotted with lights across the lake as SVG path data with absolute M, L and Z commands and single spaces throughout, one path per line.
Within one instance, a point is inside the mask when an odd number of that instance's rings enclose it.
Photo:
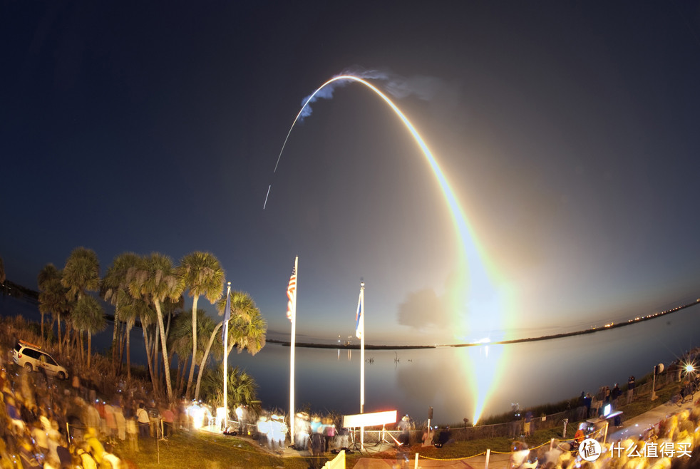
M 610 329 L 617 329 L 619 327 L 631 326 L 632 324 L 638 324 L 643 321 L 649 321 L 651 319 L 657 319 L 661 316 L 666 316 L 668 314 L 673 314 L 681 309 L 689 308 L 690 306 L 696 306 L 700 304 L 700 298 L 696 299 L 692 303 L 684 304 L 682 306 L 676 306 L 674 309 L 669 309 L 667 311 L 662 311 L 660 313 L 648 314 L 647 316 L 637 317 L 635 319 L 629 319 L 629 321 L 620 322 L 617 324 L 610 323 L 602 327 L 592 327 L 591 329 L 583 329 L 581 331 L 573 332 L 562 332 L 561 334 L 550 334 L 547 336 L 539 337 L 525 337 L 523 339 L 510 339 L 505 341 L 494 341 L 494 342 L 472 342 L 469 344 L 443 344 L 443 345 L 365 345 L 365 350 L 412 350 L 412 349 L 437 349 L 443 347 L 474 347 L 480 345 L 493 345 L 493 344 L 520 344 L 522 342 L 538 342 L 546 341 L 552 339 L 562 339 L 563 337 L 571 336 L 582 336 L 585 334 L 593 334 L 600 331 L 609 331 Z M 276 339 L 268 339 L 270 344 L 279 344 L 282 346 L 291 346 L 289 341 L 281 341 Z M 306 349 L 343 349 L 343 350 L 359 350 L 360 344 L 309 344 L 307 342 L 297 342 L 294 344 L 297 347 L 304 347 Z

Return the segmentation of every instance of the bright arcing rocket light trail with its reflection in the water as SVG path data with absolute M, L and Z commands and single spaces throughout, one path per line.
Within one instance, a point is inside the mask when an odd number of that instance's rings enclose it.
M 498 287 L 496 287 L 497 283 L 492 279 L 492 277 L 495 277 L 495 273 L 493 269 L 487 269 L 485 262 L 483 262 L 483 256 L 475 241 L 475 235 L 470 229 L 451 185 L 443 174 L 437 161 L 433 158 L 431 151 L 428 149 L 428 145 L 423 141 L 423 138 L 421 138 L 416 128 L 413 127 L 413 124 L 406 118 L 406 115 L 403 115 L 396 104 L 394 104 L 388 96 L 379 91 L 379 88 L 376 88 L 359 76 L 348 74 L 335 76 L 319 86 L 319 88 L 304 101 L 302 109 L 299 110 L 297 117 L 294 118 L 294 122 L 289 128 L 287 137 L 284 139 L 282 150 L 279 152 L 273 172 L 277 172 L 279 160 L 282 158 L 284 147 L 287 145 L 287 140 L 289 140 L 289 135 L 292 133 L 294 125 L 299 118 L 304 118 L 310 114 L 309 103 L 314 102 L 317 97 L 331 98 L 333 92 L 332 86 L 344 84 L 344 82 L 347 81 L 363 84 L 371 89 L 371 91 L 374 91 L 377 96 L 389 105 L 411 133 L 418 147 L 421 148 L 423 155 L 431 166 L 431 170 L 433 170 L 433 175 L 440 184 L 441 191 L 448 204 L 453 223 L 458 233 L 458 250 L 460 254 L 458 258 L 463 259 L 463 262 L 459 262 L 458 265 L 453 291 L 448 292 L 448 301 L 451 306 L 449 310 L 452 311 L 452 329 L 456 331 L 455 339 L 469 341 L 470 334 L 475 334 L 475 331 L 478 331 L 481 334 L 487 333 L 489 335 L 488 339 L 482 339 L 483 342 L 502 340 L 503 330 L 505 329 L 505 317 L 509 312 L 509 308 L 506 306 L 506 298 L 503 290 L 498 289 Z M 329 89 L 325 93 L 319 95 L 326 87 L 329 87 Z M 304 112 L 306 112 L 306 114 L 304 114 Z M 268 187 L 264 207 L 267 206 L 269 189 Z M 475 337 L 471 339 L 475 341 Z M 465 359 L 463 359 L 464 363 L 460 366 L 460 371 L 467 376 L 466 379 L 472 391 L 473 402 L 471 405 L 474 406 L 474 424 L 478 422 L 483 412 L 488 400 L 488 395 L 493 389 L 493 386 L 495 386 L 495 381 L 498 379 L 500 364 L 503 363 L 503 346 L 496 347 L 497 348 L 492 350 L 489 354 L 488 345 L 474 346 L 470 347 L 468 354 L 463 355 Z

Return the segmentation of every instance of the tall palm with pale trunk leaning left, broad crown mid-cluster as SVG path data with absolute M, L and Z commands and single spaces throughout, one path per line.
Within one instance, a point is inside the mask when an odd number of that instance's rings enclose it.
M 166 299 L 177 301 L 182 294 L 182 282 L 175 272 L 173 260 L 168 256 L 154 252 L 150 254 L 150 257 L 140 259 L 138 264 L 136 269 L 130 269 L 128 272 L 129 292 L 132 296 L 143 295 L 143 297 L 153 301 L 155 314 L 158 316 L 160 344 L 163 349 L 165 386 L 168 391 L 168 401 L 173 402 L 168 346 L 165 341 L 165 324 L 163 324 L 163 310 L 160 304 Z

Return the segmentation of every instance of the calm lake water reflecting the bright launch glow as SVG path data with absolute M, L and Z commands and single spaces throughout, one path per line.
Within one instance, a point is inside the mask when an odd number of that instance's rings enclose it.
M 38 320 L 36 306 L 0 298 L 0 314 L 23 314 Z M 523 344 L 399 351 L 366 350 L 365 412 L 396 409 L 416 421 L 434 408 L 437 423 L 473 421 L 485 396 L 483 415 L 562 401 L 595 392 L 599 386 L 627 383 L 669 364 L 684 351 L 700 346 L 700 306 L 691 306 L 619 329 Z M 108 331 L 93 340 L 108 343 Z M 143 360 L 140 329 L 131 338 L 132 357 Z M 95 349 L 103 349 L 96 346 Z M 314 411 L 359 413 L 358 350 L 296 349 L 296 403 Z M 134 358 L 135 357 L 135 358 Z M 229 357 L 257 383 L 265 408 L 289 406 L 289 347 L 267 344 L 256 356 Z M 475 384 L 476 383 L 476 384 Z M 490 388 L 488 388 L 490 385 Z M 488 388 L 488 389 L 487 389 Z

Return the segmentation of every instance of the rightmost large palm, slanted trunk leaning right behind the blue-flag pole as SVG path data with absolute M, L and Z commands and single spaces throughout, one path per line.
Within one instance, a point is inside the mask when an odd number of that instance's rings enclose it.
M 222 315 L 226 309 L 226 299 L 217 301 L 217 309 Z M 225 353 L 230 354 L 234 346 L 238 347 L 238 352 L 243 350 L 249 354 L 257 354 L 265 346 L 265 335 L 267 334 L 267 321 L 260 314 L 260 310 L 255 306 L 255 301 L 246 292 L 231 292 L 231 317 L 229 319 L 229 348 Z M 217 348 L 222 349 L 222 341 L 219 329 L 223 321 L 217 324 L 207 343 L 200 370 L 197 374 L 197 385 L 195 386 L 195 399 L 199 398 L 202 372 L 204 371 L 207 358 L 212 349 L 212 344 L 217 341 Z M 221 344 L 221 345 L 218 345 Z M 223 351 L 222 351 L 223 352 Z M 222 372 L 223 373 L 223 372 Z

